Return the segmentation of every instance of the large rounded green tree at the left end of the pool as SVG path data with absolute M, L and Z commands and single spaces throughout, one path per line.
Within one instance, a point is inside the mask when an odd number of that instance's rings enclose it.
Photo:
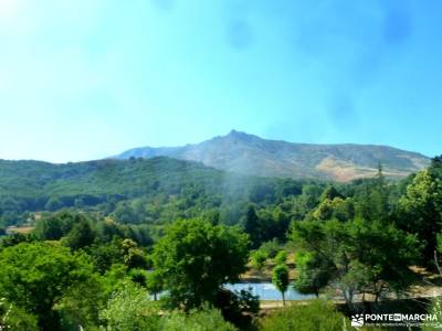
M 249 257 L 248 236 L 202 220 L 178 221 L 154 246 L 155 269 L 175 307 L 214 302 L 225 282 L 238 281 Z

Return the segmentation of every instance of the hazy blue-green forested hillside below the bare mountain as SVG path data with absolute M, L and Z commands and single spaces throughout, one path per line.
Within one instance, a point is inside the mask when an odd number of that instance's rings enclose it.
M 301 192 L 301 182 L 234 174 L 166 157 L 65 164 L 0 159 L 0 221 L 7 217 L 9 224 L 15 224 L 14 218 L 25 211 L 64 207 L 112 212 L 118 202 L 139 197 L 155 205 L 154 210 L 172 205 L 200 213 L 221 202 L 245 201 L 251 192 L 265 195 L 270 190 L 273 196 L 278 183 L 281 190 Z M 255 186 L 261 191 L 252 191 Z

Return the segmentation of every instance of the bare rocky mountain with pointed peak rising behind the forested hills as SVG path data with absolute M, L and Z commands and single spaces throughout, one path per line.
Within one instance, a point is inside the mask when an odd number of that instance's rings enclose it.
M 231 172 L 260 177 L 325 179 L 350 181 L 377 173 L 402 178 L 425 168 L 430 159 L 423 154 L 375 145 L 312 145 L 267 140 L 232 130 L 196 145 L 162 148 L 135 148 L 114 158 L 154 158 L 165 156 L 202 162 Z

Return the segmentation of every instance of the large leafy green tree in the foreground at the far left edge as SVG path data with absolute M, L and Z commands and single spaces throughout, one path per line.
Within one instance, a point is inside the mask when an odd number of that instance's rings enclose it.
M 39 319 L 43 330 L 57 330 L 54 306 L 64 291 L 87 280 L 93 266 L 84 255 L 44 243 L 22 243 L 0 253 L 0 296 Z

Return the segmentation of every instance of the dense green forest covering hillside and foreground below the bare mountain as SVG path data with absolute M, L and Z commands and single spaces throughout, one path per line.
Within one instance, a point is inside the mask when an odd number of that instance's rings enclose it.
M 168 158 L 0 161 L 0 215 L 1 330 L 350 330 L 360 300 L 406 298 L 415 267 L 439 273 L 442 158 L 350 183 Z M 283 298 L 320 299 L 262 316 L 225 289 L 269 265 Z

